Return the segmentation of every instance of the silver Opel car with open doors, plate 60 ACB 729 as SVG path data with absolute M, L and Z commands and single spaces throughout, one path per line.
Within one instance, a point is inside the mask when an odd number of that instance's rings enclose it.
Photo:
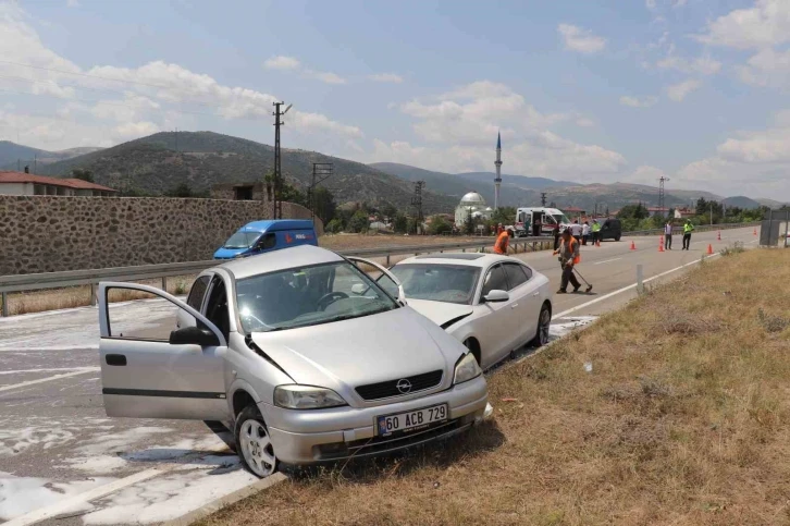
M 359 262 L 392 279 L 399 297 Z M 170 302 L 177 321 L 169 339 L 113 327 L 113 289 Z M 482 420 L 486 407 L 478 362 L 406 305 L 393 274 L 314 246 L 211 268 L 186 303 L 151 286 L 101 283 L 99 319 L 108 416 L 225 421 L 243 464 L 260 477 L 281 462 L 446 438 Z

